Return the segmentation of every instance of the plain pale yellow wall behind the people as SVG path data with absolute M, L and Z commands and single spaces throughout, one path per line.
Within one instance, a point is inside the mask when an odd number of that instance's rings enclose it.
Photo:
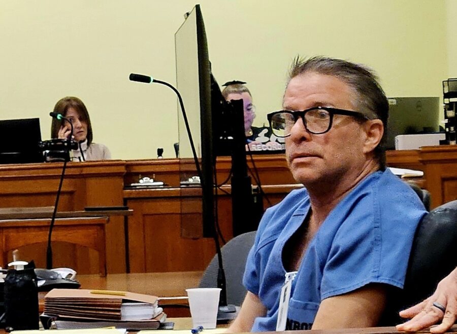
M 129 82 L 130 72 L 175 84 L 174 33 L 196 0 L 2 0 L 1 119 L 40 117 L 49 138 L 55 102 L 87 105 L 94 141 L 117 159 L 173 157 L 177 103 L 163 86 Z M 366 63 L 390 96 L 441 96 L 457 76 L 457 40 L 446 10 L 455 0 L 202 0 L 213 73 L 239 79 L 257 106 L 254 125 L 281 106 L 297 54 Z M 447 19 L 446 19 L 447 18 Z M 452 35 L 446 38 L 446 33 Z

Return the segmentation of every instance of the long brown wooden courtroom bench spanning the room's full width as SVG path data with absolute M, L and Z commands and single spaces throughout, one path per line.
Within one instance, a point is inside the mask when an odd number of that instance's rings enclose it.
M 301 187 L 293 180 L 284 155 L 256 155 L 253 162 L 265 193 L 267 208 L 278 203 L 291 190 Z M 190 162 L 189 162 L 190 163 Z M 254 173 L 248 157 L 250 172 Z M 457 146 L 426 146 L 413 151 L 387 152 L 390 167 L 422 170 L 416 178 L 420 187 L 431 193 L 431 207 L 457 199 Z M 55 202 L 62 163 L 0 165 L 0 208 L 49 207 Z M 227 179 L 231 160 L 220 157 L 217 178 Z M 110 216 L 105 228 L 105 256 L 97 247 L 85 247 L 60 237 L 53 242 L 54 267 L 71 267 L 79 274 L 100 272 L 100 261 L 106 261 L 109 274 L 142 272 L 202 271 L 215 254 L 214 241 L 202 238 L 199 216 L 200 193 L 182 192 L 183 162 L 178 159 L 109 160 L 69 163 L 62 185 L 58 211 L 81 211 L 90 206 L 128 206 L 132 215 Z M 166 183 L 163 188 L 127 188 L 142 176 L 155 177 Z M 256 175 L 253 177 L 255 185 Z M 183 199 L 186 205 L 183 206 Z M 225 241 L 233 237 L 230 181 L 217 193 L 218 222 Z M 188 204 L 190 203 L 190 205 Z M 193 204 L 192 204 L 193 203 Z M 81 218 L 83 219 L 83 218 Z M 59 222 L 60 221 L 60 222 Z M 34 259 L 45 267 L 46 243 L 34 241 L 34 230 L 20 221 L 0 221 L 0 242 L 5 244 L 17 224 L 18 237 L 29 232 L 29 244 L 19 248 L 21 259 Z M 65 225 L 68 238 L 84 236 Z M 100 221 L 99 221 L 100 224 Z M 13 230 L 14 232 L 14 230 Z M 62 233 L 62 232 L 61 232 Z M 103 234 L 102 234 L 103 235 Z M 103 249 L 103 247 L 99 247 Z M 12 258 L 11 250 L 6 258 Z M 6 266 L 6 264 L 0 264 Z

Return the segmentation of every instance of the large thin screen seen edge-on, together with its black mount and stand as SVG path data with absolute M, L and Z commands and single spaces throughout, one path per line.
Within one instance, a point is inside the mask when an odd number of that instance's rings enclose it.
M 247 175 L 243 103 L 240 100 L 226 102 L 211 73 L 200 5 L 195 5 L 185 15 L 184 23 L 175 33 L 175 47 L 177 89 L 182 96 L 195 151 L 201 164 L 203 236 L 214 237 L 216 233 L 215 162 L 217 152 L 227 142 L 232 155 L 234 235 L 245 229 L 255 230 L 258 219 L 250 219 L 250 215 L 254 214 L 254 203 L 251 180 Z M 185 182 L 186 177 L 192 173 L 189 167 L 193 154 L 181 115 L 178 120 L 181 181 Z M 181 190 L 181 195 L 185 198 L 183 191 Z M 194 201 L 182 201 L 181 210 L 197 213 Z M 240 215 L 243 216 L 239 218 Z

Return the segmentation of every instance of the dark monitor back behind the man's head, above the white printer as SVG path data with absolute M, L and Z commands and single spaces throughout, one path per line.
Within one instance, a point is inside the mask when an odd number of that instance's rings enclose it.
M 398 135 L 439 132 L 439 97 L 391 97 L 388 102 L 387 150 L 395 150 Z

